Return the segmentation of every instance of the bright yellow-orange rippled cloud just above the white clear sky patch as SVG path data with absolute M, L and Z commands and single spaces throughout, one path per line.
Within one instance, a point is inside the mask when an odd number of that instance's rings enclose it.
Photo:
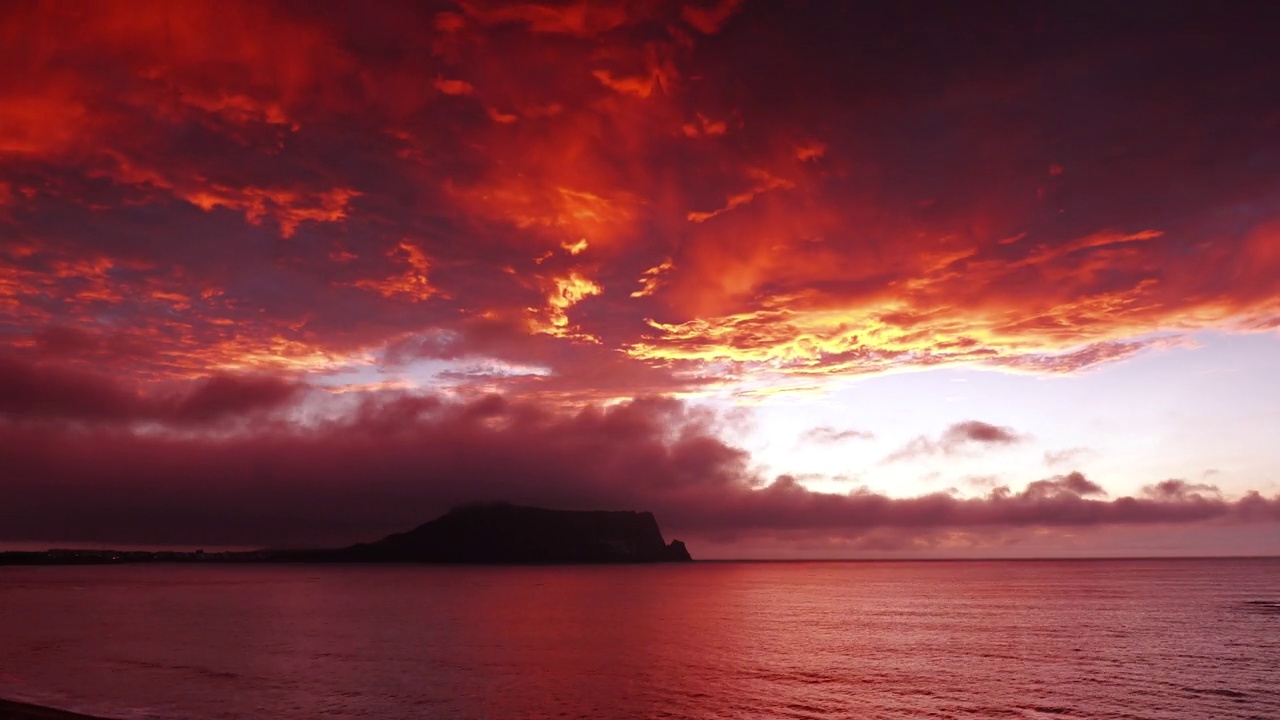
M 1140 260 L 1111 254 L 1115 246 L 1161 234 L 1094 233 L 1033 249 L 1011 263 L 984 260 L 977 249 L 922 252 L 915 273 L 874 295 L 841 300 L 804 290 L 765 296 L 753 302 L 754 309 L 730 315 L 650 320 L 658 333 L 627 352 L 649 361 L 731 363 L 782 374 L 842 375 L 945 364 L 1070 373 L 1180 342 L 1156 334 L 1162 331 L 1238 323 L 1233 318 L 1240 316 L 1240 307 L 1212 301 L 1183 302 L 1172 310 L 1160 300 L 1166 291 L 1155 278 L 1085 290 L 1100 282 L 1101 273 Z M 785 263 L 815 277 L 803 269 L 810 265 Z M 1052 278 L 1055 290 L 1037 296 L 1001 292 L 1030 268 Z M 754 278 L 746 287 L 723 287 L 749 296 L 749 288 L 768 275 Z M 1256 307 L 1253 313 L 1266 316 L 1277 304 L 1262 301 Z

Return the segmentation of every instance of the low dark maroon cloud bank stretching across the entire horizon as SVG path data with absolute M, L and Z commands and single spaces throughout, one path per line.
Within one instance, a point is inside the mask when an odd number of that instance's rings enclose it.
M 338 543 L 492 500 L 643 507 L 690 537 L 856 539 L 883 530 L 911 538 L 947 529 L 1280 520 L 1280 498 L 1230 500 L 1212 486 L 1165 480 L 1138 497 L 1107 500 L 1079 473 L 972 498 L 819 493 L 791 475 L 765 480 L 746 451 L 721 437 L 721 418 L 663 398 L 566 411 L 502 396 L 457 401 L 384 389 L 334 396 L 308 423 L 179 432 L 191 419 L 252 413 L 252 404 L 230 397 L 180 402 L 184 411 L 152 428 L 83 425 L 74 421 L 83 414 L 67 413 L 56 421 L 3 420 L 0 539 Z

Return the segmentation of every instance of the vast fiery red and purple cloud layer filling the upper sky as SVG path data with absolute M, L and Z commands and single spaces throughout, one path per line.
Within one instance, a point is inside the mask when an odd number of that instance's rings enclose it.
M 0 224 L 19 238 L 0 343 L 110 327 L 163 348 L 115 357 L 124 373 L 329 372 L 541 307 L 566 347 L 598 338 L 637 368 L 820 387 L 905 366 L 1078 373 L 1280 316 L 1274 113 L 1256 100 L 1270 38 L 1249 13 L 1152 19 L 1142 51 L 1124 23 L 1082 41 L 1069 13 L 1044 42 L 1115 78 L 1083 87 L 1038 72 L 1016 23 L 992 35 L 960 10 L 941 18 L 959 56 L 922 40 L 886 64 L 870 41 L 892 22 L 872 6 L 392 3 L 357 28 L 288 4 L 145 5 L 0 18 Z M 1181 27 L 1235 41 L 1187 47 Z M 884 72 L 845 69 L 867 63 Z M 943 90 L 922 67 L 959 69 Z M 1080 110 L 1098 106 L 1121 120 Z M 1196 132 L 1137 120 L 1170 113 Z M 530 275 L 579 242 L 590 265 L 550 274 L 602 292 L 556 325 L 556 290 Z

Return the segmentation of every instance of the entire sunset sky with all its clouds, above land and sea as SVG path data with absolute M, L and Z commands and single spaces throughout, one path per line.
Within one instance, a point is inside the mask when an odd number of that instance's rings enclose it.
M 1280 6 L 0 9 L 0 546 L 1280 553 Z

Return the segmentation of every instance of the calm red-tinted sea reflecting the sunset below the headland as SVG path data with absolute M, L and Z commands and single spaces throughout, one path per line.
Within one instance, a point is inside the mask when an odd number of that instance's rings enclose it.
M 1280 717 L 1280 561 L 0 568 L 120 717 Z

